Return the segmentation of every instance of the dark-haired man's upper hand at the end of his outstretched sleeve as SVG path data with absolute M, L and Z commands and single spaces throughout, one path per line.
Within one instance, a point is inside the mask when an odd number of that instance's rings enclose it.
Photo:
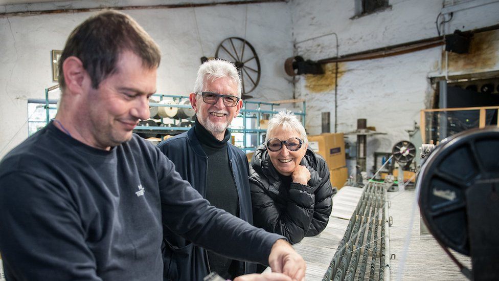
M 279 239 L 272 246 L 270 255 L 268 255 L 268 264 L 272 272 L 284 273 L 293 280 L 305 280 L 307 265 L 303 257 L 283 239 Z

